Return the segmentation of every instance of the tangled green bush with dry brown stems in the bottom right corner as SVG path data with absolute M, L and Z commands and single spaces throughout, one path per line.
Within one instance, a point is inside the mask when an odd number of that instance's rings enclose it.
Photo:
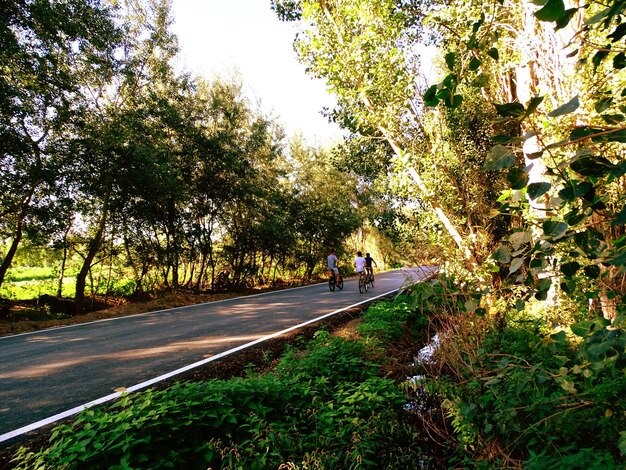
M 626 377 L 623 365 L 616 367 L 623 332 L 611 328 L 611 352 L 607 341 L 594 342 L 593 333 L 581 333 L 585 341 L 564 329 L 545 335 L 550 326 L 540 319 L 512 316 L 516 321 L 504 328 L 484 319 L 471 322 L 473 328 L 482 325 L 480 334 L 467 325 L 450 330 L 438 352 L 444 375 L 429 387 L 443 397 L 465 455 L 461 461 L 493 463 L 499 455 L 503 465 L 510 464 L 507 459 L 526 461 L 524 468 L 618 468 L 620 433 L 626 430 Z M 479 343 L 469 346 L 468 336 Z M 608 363 L 594 364 L 589 349 L 610 358 Z M 584 465 L 571 466 L 576 459 Z

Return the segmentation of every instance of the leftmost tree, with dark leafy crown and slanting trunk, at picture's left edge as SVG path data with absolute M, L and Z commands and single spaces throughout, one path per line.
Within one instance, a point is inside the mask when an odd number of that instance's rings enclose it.
M 108 76 L 120 34 L 100 0 L 17 0 L 0 10 L 0 227 L 12 238 L 0 284 L 40 204 L 62 183 L 63 140 L 90 73 Z

